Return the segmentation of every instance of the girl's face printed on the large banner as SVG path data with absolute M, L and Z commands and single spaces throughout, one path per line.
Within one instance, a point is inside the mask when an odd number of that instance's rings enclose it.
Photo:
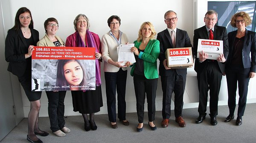
M 83 70 L 76 61 L 67 62 L 63 67 L 64 75 L 69 85 L 79 85 L 83 80 Z

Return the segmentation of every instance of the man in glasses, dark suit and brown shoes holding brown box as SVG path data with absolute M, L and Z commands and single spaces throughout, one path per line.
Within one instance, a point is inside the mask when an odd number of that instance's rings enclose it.
M 160 60 L 159 75 L 161 76 L 163 90 L 163 121 L 161 122 L 161 126 L 168 126 L 171 115 L 171 98 L 174 92 L 175 121 L 179 126 L 185 127 L 186 123 L 182 118 L 182 108 L 187 70 L 186 68 L 170 69 L 167 67 L 165 52 L 168 48 L 184 48 L 192 47 L 192 45 L 187 32 L 176 28 L 178 18 L 175 11 L 167 11 L 164 14 L 164 19 L 167 29 L 157 34 L 157 40 L 160 42 L 160 54 L 158 57 Z

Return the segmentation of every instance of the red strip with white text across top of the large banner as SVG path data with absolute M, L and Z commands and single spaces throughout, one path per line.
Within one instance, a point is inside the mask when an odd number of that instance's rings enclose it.
M 95 59 L 95 48 L 35 46 L 32 59 Z

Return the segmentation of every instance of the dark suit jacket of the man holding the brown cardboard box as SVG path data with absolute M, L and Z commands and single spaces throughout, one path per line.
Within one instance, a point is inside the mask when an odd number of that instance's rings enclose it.
M 157 34 L 157 40 L 160 42 L 160 54 L 158 59 L 160 60 L 159 64 L 159 75 L 160 76 L 169 76 L 172 70 L 166 70 L 163 66 L 163 60 L 166 59 L 165 52 L 168 48 L 173 48 L 171 36 L 166 28 L 166 30 L 161 31 Z M 177 28 L 176 31 L 176 48 L 192 47 L 189 35 L 186 31 L 180 30 Z M 193 47 L 192 47 L 193 51 Z M 193 53 L 193 52 L 192 52 Z M 194 58 L 194 55 L 193 55 Z M 183 69 L 173 69 L 176 70 L 178 75 L 186 76 L 186 68 Z

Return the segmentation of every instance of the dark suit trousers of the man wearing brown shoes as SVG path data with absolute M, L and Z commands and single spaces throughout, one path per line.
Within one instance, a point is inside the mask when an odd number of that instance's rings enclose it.
M 177 75 L 176 70 L 173 70 L 172 75 L 161 76 L 162 90 L 163 90 L 163 108 L 162 116 L 163 119 L 169 119 L 171 116 L 171 100 L 172 93 L 174 96 L 174 113 L 175 118 L 182 116 L 183 109 L 183 94 L 186 85 L 186 75 Z

